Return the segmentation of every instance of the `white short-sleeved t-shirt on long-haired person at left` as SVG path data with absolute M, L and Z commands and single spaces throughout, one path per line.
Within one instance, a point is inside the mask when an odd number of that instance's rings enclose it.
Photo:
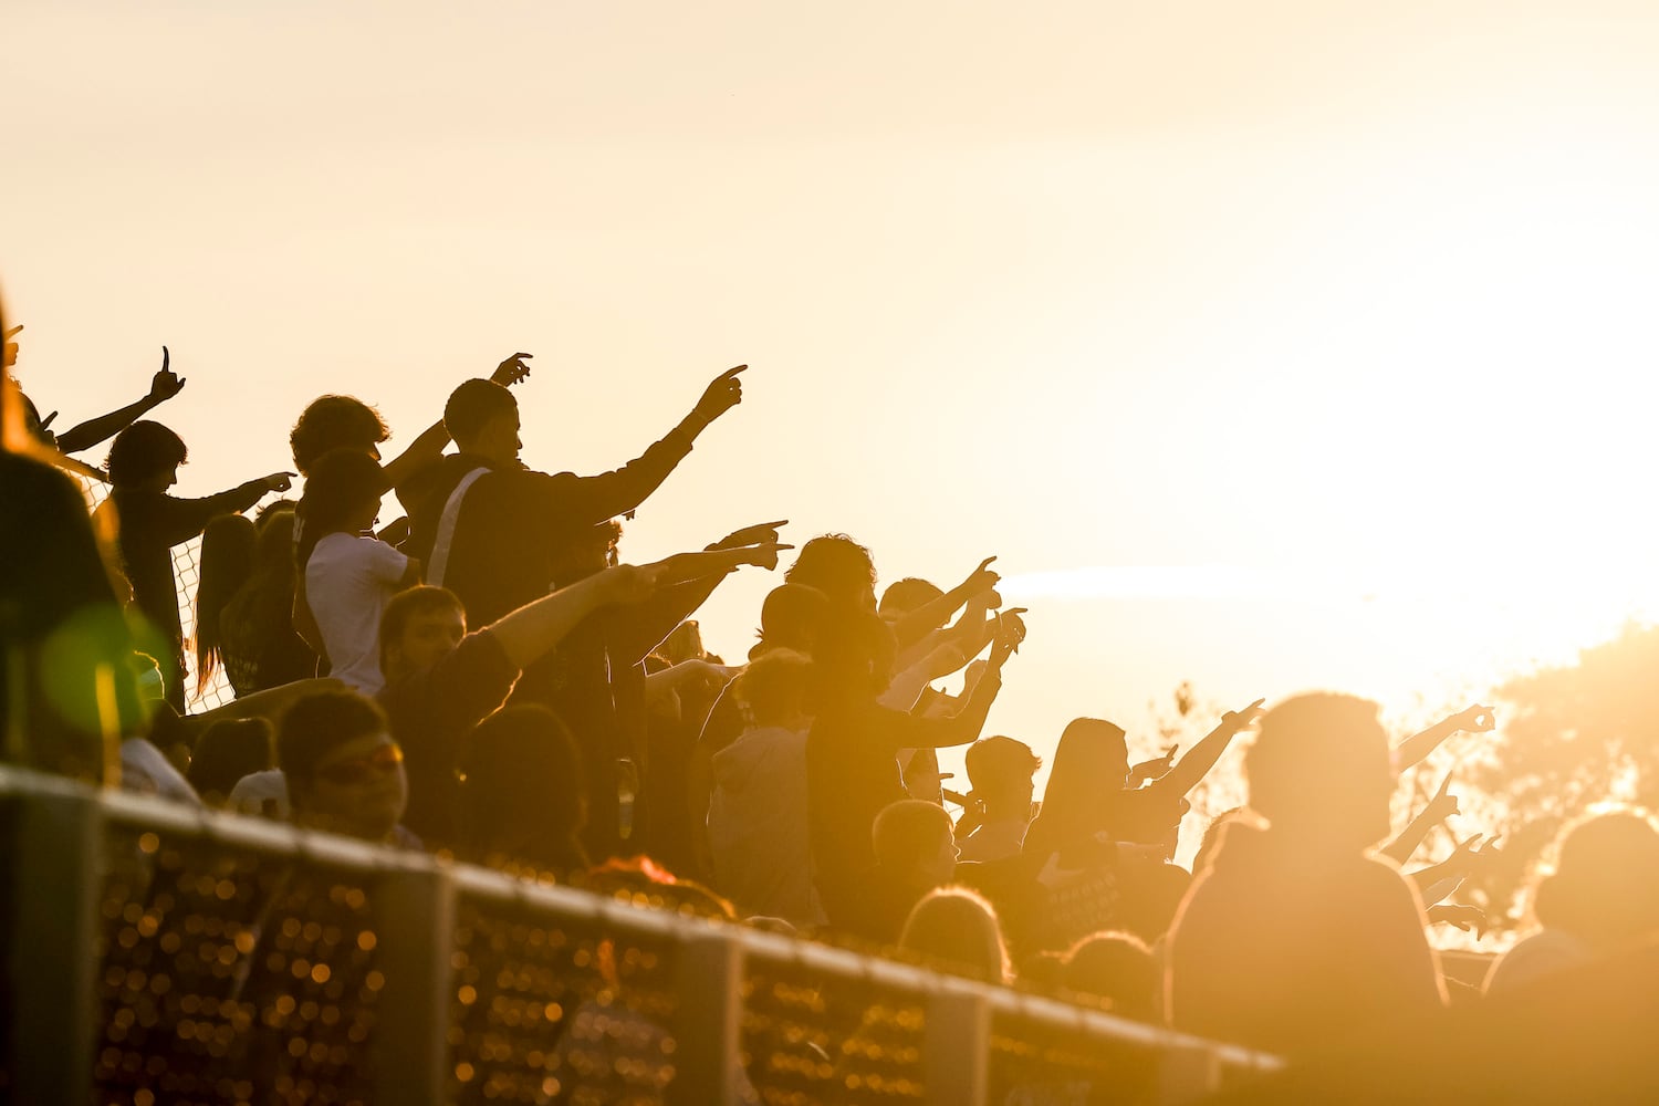
M 328 534 L 305 565 L 305 599 L 328 650 L 328 675 L 378 695 L 380 614 L 398 592 L 410 559 L 373 537 Z

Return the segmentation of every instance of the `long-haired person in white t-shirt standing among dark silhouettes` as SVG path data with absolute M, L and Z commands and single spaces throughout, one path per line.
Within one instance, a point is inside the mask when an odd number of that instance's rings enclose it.
M 380 514 L 385 473 L 373 458 L 333 449 L 312 466 L 300 499 L 304 614 L 317 630 L 328 675 L 363 695 L 385 686 L 380 673 L 380 617 L 387 602 L 420 584 L 420 562 L 377 537 L 365 537 Z

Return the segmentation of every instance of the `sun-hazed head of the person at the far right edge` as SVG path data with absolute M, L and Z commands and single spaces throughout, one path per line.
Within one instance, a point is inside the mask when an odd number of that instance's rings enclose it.
M 1554 872 L 1533 892 L 1543 925 L 1596 947 L 1659 930 L 1659 829 L 1646 811 L 1579 819 L 1558 841 Z

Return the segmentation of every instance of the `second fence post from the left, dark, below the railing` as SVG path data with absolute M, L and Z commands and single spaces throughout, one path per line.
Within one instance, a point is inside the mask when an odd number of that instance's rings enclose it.
M 431 864 L 383 872 L 370 902 L 377 963 L 387 978 L 370 1055 L 375 1099 L 443 1106 L 450 1101 L 453 882 Z

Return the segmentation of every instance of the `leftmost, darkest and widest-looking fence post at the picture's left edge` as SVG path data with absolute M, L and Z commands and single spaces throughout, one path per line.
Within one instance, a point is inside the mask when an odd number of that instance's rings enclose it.
M 103 808 L 93 794 L 12 798 L 10 948 L 15 1101 L 88 1103 L 98 1040 Z

